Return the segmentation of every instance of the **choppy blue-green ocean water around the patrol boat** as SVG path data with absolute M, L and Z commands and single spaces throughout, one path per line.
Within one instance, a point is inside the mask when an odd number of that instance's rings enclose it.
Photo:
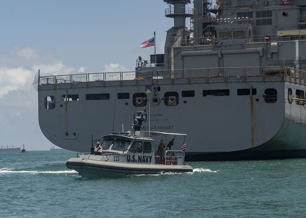
M 306 217 L 306 159 L 189 162 L 192 173 L 82 179 L 73 151 L 0 153 L 0 217 Z

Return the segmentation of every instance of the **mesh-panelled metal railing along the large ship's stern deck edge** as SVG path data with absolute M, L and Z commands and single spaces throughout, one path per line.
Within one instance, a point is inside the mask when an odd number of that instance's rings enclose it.
M 98 78 L 98 79 L 97 79 Z M 306 85 L 306 72 L 289 67 L 220 67 L 40 76 L 39 89 L 211 82 L 289 81 Z

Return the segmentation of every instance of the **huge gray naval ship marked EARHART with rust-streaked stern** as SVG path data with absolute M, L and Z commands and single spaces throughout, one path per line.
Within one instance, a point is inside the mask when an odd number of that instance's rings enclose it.
M 146 107 L 142 130 L 188 135 L 186 161 L 306 157 L 306 0 L 164 2 L 165 53 L 135 72 L 38 72 L 47 139 L 88 152 L 91 134 L 128 129 Z

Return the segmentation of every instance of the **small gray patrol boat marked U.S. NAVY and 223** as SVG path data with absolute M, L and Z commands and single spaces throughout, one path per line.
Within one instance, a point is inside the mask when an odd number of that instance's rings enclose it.
M 164 135 L 166 139 L 169 135 L 174 135 L 174 138 L 183 136 L 185 139 L 186 134 L 140 131 L 143 121 L 147 121 L 147 114 L 138 111 L 132 124 L 133 134 L 128 131 L 102 136 L 102 153 L 94 151 L 92 142 L 91 152 L 70 158 L 66 162 L 67 168 L 77 171 L 84 178 L 192 172 L 192 167 L 185 162 L 185 149 L 171 150 L 174 139 L 166 147 L 165 163 L 159 160 L 159 155 L 155 155 L 157 152 L 154 151 L 153 135 Z

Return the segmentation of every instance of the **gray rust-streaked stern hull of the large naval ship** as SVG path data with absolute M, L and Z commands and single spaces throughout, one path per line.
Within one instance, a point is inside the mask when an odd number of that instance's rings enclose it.
M 303 143 L 306 139 L 305 109 L 303 105 L 295 102 L 289 104 L 287 100 L 289 87 L 292 90 L 305 90 L 305 87 L 284 82 L 282 76 L 277 80 L 253 82 L 257 94 L 252 98 L 235 94 L 201 96 L 203 89 L 229 89 L 230 93 L 235 93 L 237 89 L 246 87 L 244 83 L 199 83 L 192 84 L 192 88 L 189 84 L 160 85 L 163 90 L 157 95 L 160 102 L 147 103 L 150 120 L 143 129 L 147 132 L 186 133 L 186 161 L 305 157 L 304 152 L 301 152 L 306 149 Z M 273 104 L 265 102 L 262 96 L 268 87 L 278 90 L 277 101 Z M 132 96 L 139 88 L 144 89 L 145 85 L 127 86 L 124 92 Z M 180 97 L 179 104 L 171 107 L 165 106 L 161 100 L 168 91 L 180 92 L 186 89 L 195 90 L 197 95 L 193 98 Z M 91 134 L 94 140 L 99 140 L 103 133 L 113 129 L 120 131 L 122 125 L 126 130 L 131 118 L 121 114 L 143 109 L 134 107 L 132 99 L 116 99 L 116 92 L 123 92 L 123 88 L 118 86 L 74 87 L 69 89 L 69 94 L 80 96 L 75 102 L 61 101 L 66 91 L 39 91 L 39 124 L 53 144 L 67 150 L 87 152 L 91 145 Z M 96 92 L 110 93 L 110 100 L 88 101 L 81 97 Z M 60 101 L 58 107 L 46 110 L 44 98 L 50 95 Z M 150 97 L 154 96 L 147 94 L 147 98 Z M 175 146 L 177 150 L 181 147 Z

